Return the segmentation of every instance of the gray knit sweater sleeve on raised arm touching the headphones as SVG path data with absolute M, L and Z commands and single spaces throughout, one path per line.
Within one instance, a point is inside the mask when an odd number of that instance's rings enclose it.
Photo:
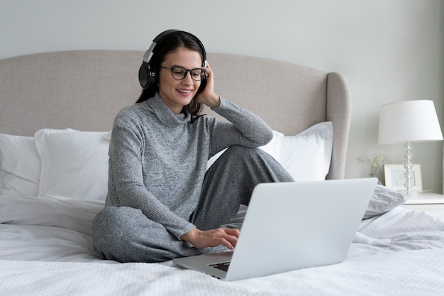
M 259 147 L 272 141 L 272 128 L 247 109 L 221 97 L 221 105 L 212 110 L 229 122 L 215 122 L 211 131 L 211 155 L 233 145 Z

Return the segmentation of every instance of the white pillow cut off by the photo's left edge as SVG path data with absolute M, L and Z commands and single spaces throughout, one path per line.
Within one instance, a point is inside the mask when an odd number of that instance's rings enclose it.
M 0 134 L 0 194 L 38 194 L 40 157 L 34 137 Z

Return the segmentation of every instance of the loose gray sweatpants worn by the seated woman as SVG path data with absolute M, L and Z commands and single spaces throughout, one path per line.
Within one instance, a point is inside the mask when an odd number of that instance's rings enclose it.
M 240 204 L 248 205 L 255 185 L 291 181 L 287 171 L 259 148 L 233 146 L 206 172 L 189 221 L 197 229 L 216 229 L 237 214 Z M 194 248 L 130 207 L 105 207 L 92 221 L 91 237 L 100 256 L 119 262 L 162 262 L 225 248 Z

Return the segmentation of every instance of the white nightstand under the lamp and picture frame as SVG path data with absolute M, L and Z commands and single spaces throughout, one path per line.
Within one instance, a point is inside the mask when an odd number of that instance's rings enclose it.
M 428 214 L 444 219 L 443 194 L 424 192 L 419 197 L 408 197 L 407 202 L 402 207 L 428 212 Z

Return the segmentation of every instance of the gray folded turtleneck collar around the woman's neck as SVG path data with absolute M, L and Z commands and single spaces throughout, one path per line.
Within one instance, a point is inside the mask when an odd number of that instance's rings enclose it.
M 187 124 L 191 120 L 191 115 L 187 108 L 184 107 L 181 114 L 174 114 L 167 104 L 163 102 L 158 92 L 156 92 L 154 97 L 146 100 L 146 102 L 165 126 L 179 126 Z

